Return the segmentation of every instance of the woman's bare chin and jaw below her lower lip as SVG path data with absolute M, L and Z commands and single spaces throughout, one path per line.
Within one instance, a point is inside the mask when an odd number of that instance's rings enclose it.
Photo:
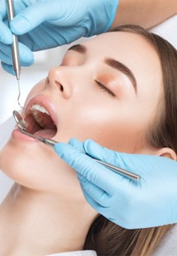
M 9 161 L 11 156 L 11 161 Z M 63 197 L 82 195 L 75 171 L 45 145 L 19 145 L 10 140 L 0 152 L 0 168 L 16 183 Z M 67 190 L 67 194 L 66 194 Z

